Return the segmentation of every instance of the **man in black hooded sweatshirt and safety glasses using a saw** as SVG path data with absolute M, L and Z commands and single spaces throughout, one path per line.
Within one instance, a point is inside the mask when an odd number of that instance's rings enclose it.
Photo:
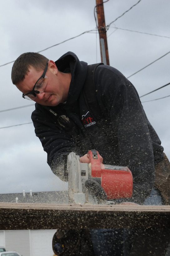
M 87 63 L 80 62 L 72 52 L 56 62 L 28 52 L 13 64 L 13 84 L 22 91 L 23 98 L 36 102 L 32 121 L 51 170 L 67 181 L 63 155 L 73 151 L 80 155 L 81 162 L 89 162 L 86 153 L 94 148 L 105 164 L 128 166 L 133 174 L 133 195 L 130 199 L 120 199 L 119 203 L 143 204 L 151 191 L 161 200 L 154 188 L 154 164 L 163 161 L 163 147 L 145 115 L 136 89 L 115 68 L 97 66 L 94 101 L 99 105 L 100 121 L 95 120 L 83 92 L 87 68 Z M 97 247 L 93 238 L 92 242 Z M 114 249 L 111 250 L 112 254 L 104 255 L 123 255 L 119 248 L 114 254 Z M 95 255 L 100 253 L 95 250 Z

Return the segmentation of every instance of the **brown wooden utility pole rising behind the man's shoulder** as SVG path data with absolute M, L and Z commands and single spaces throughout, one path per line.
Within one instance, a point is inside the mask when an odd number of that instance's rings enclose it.
M 97 11 L 98 31 L 99 31 L 99 39 L 100 39 L 101 61 L 104 64 L 109 65 L 109 53 L 108 53 L 108 47 L 107 47 L 103 0 L 96 0 L 96 11 Z

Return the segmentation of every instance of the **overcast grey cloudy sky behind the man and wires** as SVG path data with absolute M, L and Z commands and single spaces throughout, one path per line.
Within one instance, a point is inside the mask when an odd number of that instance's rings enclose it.
M 46 152 L 31 123 L 33 102 L 23 99 L 12 84 L 11 69 L 13 61 L 23 52 L 42 51 L 41 54 L 56 61 L 72 51 L 88 64 L 100 62 L 95 3 L 95 0 L 0 0 L 0 193 L 67 189 L 67 183 L 58 179 L 46 163 Z M 140 96 L 170 82 L 169 9 L 169 0 L 104 3 L 105 23 L 110 25 L 107 31 L 110 65 L 129 77 Z M 86 33 L 77 37 L 83 32 Z M 170 85 L 142 97 L 141 101 L 170 159 L 169 95 Z M 158 98 L 162 99 L 155 100 Z

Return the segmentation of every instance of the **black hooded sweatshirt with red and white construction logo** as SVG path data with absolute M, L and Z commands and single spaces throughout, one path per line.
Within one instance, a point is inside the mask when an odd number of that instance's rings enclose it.
M 94 120 L 83 94 L 87 63 L 72 52 L 55 63 L 61 72 L 71 72 L 67 101 L 49 108 L 36 103 L 32 113 L 35 133 L 47 152 L 51 170 L 67 181 L 63 155 L 73 151 L 82 156 L 96 149 L 104 164 L 128 166 L 132 172 L 132 198 L 121 201 L 142 204 L 153 188 L 154 162 L 163 159 L 163 147 L 136 89 L 115 68 L 98 66 L 94 100 L 98 101 L 101 118 Z

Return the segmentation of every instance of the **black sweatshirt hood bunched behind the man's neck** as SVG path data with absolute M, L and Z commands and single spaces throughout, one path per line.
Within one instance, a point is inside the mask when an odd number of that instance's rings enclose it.
M 82 91 L 87 75 L 87 63 L 79 61 L 78 57 L 73 52 L 67 52 L 61 56 L 56 62 L 59 71 L 71 73 L 71 82 L 67 103 L 74 103 Z

